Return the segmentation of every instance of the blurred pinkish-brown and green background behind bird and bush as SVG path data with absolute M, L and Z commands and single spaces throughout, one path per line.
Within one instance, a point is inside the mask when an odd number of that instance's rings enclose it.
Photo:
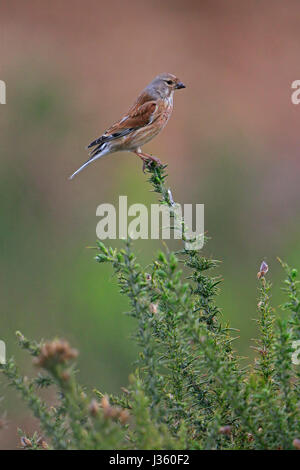
M 176 201 L 205 204 L 205 253 L 222 261 L 218 302 L 250 361 L 261 260 L 269 264 L 274 305 L 283 300 L 276 256 L 300 264 L 300 105 L 291 103 L 291 83 L 300 79 L 299 1 L 11 0 L 0 9 L 7 86 L 0 338 L 7 355 L 30 374 L 15 331 L 64 337 L 80 350 L 82 383 L 116 393 L 127 385 L 134 324 L 122 314 L 127 303 L 110 268 L 86 246 L 96 240 L 99 204 L 116 204 L 119 195 L 129 204 L 157 199 L 129 153 L 67 177 L 86 160 L 85 145 L 155 75 L 171 72 L 187 88 L 145 151 L 168 164 Z M 161 248 L 136 243 L 145 264 Z M 32 432 L 36 422 L 2 379 L 0 396 L 8 419 L 0 448 L 14 448 L 17 427 Z

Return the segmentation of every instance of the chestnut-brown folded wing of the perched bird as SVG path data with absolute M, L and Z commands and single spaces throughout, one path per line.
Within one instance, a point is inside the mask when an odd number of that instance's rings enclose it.
M 140 127 L 147 126 L 155 119 L 156 108 L 157 104 L 155 101 L 148 101 L 147 95 L 141 95 L 132 108 L 130 108 L 128 114 L 107 129 L 101 137 L 91 142 L 88 148 L 94 147 L 95 145 L 101 146 L 104 142 L 118 139 Z M 98 149 L 95 150 L 98 151 Z

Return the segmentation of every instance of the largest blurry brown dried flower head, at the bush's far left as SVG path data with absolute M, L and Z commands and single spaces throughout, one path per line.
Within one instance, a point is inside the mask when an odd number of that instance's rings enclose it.
M 45 343 L 34 364 L 49 369 L 56 364 L 64 364 L 78 356 L 76 349 L 70 347 L 68 341 L 54 340 Z

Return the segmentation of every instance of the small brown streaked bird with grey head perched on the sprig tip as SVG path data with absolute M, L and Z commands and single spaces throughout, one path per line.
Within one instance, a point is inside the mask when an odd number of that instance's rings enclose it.
M 185 88 L 185 85 L 175 75 L 158 75 L 142 91 L 128 113 L 101 137 L 90 143 L 88 148 L 95 147 L 89 154 L 90 158 L 70 176 L 70 179 L 98 158 L 124 150 L 135 153 L 143 160 L 143 170 L 151 161 L 161 165 L 158 158 L 143 153 L 141 146 L 165 127 L 173 110 L 174 91 L 180 88 Z

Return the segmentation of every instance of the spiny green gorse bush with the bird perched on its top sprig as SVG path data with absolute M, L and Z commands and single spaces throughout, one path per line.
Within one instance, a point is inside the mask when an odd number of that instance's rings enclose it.
M 147 171 L 161 203 L 172 213 L 165 168 L 153 164 Z M 17 333 L 20 346 L 40 369 L 28 379 L 13 359 L 1 366 L 40 422 L 43 437 L 22 435 L 23 447 L 300 448 L 300 366 L 293 364 L 298 362 L 297 341 L 300 344 L 295 269 L 280 261 L 287 296 L 282 309 L 288 314 L 277 318 L 268 266 L 262 263 L 257 305 L 260 336 L 254 346 L 256 359 L 245 367 L 233 349 L 235 330 L 224 324 L 216 304 L 221 280 L 210 273 L 217 261 L 183 248 L 159 253 L 145 270 L 130 240 L 120 250 L 98 242 L 97 250 L 96 261 L 111 264 L 121 293 L 130 300 L 127 313 L 136 321 L 134 340 L 139 346 L 134 373 L 120 396 L 88 392 L 76 380 L 77 351 L 68 342 L 39 344 Z M 50 386 L 57 390 L 55 407 L 38 392 Z

